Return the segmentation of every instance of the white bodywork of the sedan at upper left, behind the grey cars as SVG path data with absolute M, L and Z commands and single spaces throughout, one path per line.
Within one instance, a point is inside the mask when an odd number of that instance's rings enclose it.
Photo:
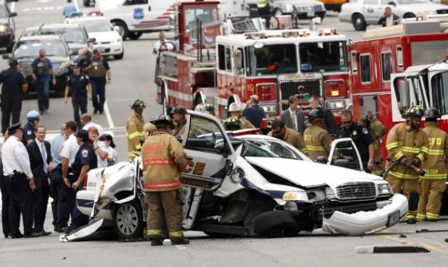
M 90 30 L 90 25 L 102 21 L 107 23 L 101 31 Z M 89 38 L 95 38 L 94 49 L 100 49 L 103 56 L 114 56 L 115 59 L 121 59 L 124 55 L 124 45 L 122 36 L 119 35 L 114 26 L 103 16 L 81 16 L 65 19 L 65 23 L 80 23 L 87 31 Z

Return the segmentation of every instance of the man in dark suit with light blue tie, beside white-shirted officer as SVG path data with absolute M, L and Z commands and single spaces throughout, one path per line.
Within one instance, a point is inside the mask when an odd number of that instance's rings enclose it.
M 38 125 L 34 142 L 26 145 L 30 157 L 31 172 L 35 177 L 36 190 L 33 192 L 34 232 L 38 236 L 46 236 L 51 232 L 43 229 L 43 221 L 47 213 L 48 196 L 50 194 L 49 174 L 53 171 L 50 143 L 45 141 L 46 128 Z

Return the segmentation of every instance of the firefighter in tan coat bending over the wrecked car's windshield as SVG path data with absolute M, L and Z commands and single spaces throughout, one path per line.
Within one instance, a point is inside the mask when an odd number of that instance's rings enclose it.
M 272 136 L 278 138 L 279 140 L 283 140 L 289 145 L 292 145 L 298 150 L 306 153 L 306 145 L 302 134 L 294 129 L 289 129 L 286 127 L 282 120 L 272 120 L 271 131 L 267 134 L 267 136 Z

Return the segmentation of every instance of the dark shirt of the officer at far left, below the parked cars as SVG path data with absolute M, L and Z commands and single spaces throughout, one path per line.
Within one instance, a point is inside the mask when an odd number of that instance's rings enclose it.
M 1 88 L 2 100 L 23 98 L 22 85 L 26 83 L 26 78 L 20 71 L 15 68 L 3 70 L 0 73 L 0 83 L 3 84 Z

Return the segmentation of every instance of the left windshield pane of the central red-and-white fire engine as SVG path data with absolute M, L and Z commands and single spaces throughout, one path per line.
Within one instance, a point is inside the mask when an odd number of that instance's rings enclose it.
M 250 75 L 297 73 L 297 53 L 294 43 L 246 48 L 246 66 Z

